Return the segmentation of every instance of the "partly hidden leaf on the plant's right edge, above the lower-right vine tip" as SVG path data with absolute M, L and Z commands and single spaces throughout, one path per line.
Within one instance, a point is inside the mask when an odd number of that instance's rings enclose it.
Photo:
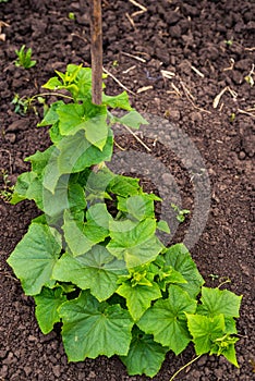
M 166 251 L 166 265 L 172 266 L 187 281 L 186 284 L 180 284 L 180 287 L 185 290 L 191 297 L 196 297 L 201 292 L 201 286 L 204 284 L 204 279 L 199 274 L 196 265 L 187 248 L 183 244 L 171 246 Z

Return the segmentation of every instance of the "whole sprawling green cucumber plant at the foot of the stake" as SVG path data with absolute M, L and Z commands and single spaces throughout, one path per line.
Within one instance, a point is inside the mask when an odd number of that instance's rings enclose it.
M 129 374 L 154 377 L 169 351 L 190 342 L 197 356 L 223 355 L 238 367 L 241 296 L 209 288 L 183 244 L 165 247 L 154 204 L 139 180 L 109 170 L 113 125 L 147 122 L 126 93 L 92 101 L 92 71 L 69 64 L 44 87 L 59 91 L 39 127 L 51 146 L 26 161 L 11 202 L 34 200 L 41 216 L 8 259 L 47 334 L 61 323 L 70 361 L 118 355 Z M 63 91 L 69 97 L 63 97 Z M 117 118 L 112 109 L 122 109 Z

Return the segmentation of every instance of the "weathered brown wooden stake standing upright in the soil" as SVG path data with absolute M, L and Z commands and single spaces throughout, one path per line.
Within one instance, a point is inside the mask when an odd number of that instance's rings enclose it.
M 92 1 L 92 79 L 93 103 L 101 105 L 102 32 L 101 0 Z

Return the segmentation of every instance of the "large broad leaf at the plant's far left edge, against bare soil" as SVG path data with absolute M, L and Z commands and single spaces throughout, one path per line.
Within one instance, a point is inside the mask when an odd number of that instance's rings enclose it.
M 61 236 L 53 228 L 32 223 L 8 259 L 26 295 L 52 286 L 52 270 L 61 251 Z

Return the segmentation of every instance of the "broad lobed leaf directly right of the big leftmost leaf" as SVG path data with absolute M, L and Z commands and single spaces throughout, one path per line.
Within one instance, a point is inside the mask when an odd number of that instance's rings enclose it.
M 92 294 L 101 302 L 118 288 L 120 273 L 124 273 L 124 263 L 112 257 L 104 246 L 97 245 L 76 258 L 64 254 L 54 267 L 53 278 L 72 282 L 82 290 L 90 288 Z

